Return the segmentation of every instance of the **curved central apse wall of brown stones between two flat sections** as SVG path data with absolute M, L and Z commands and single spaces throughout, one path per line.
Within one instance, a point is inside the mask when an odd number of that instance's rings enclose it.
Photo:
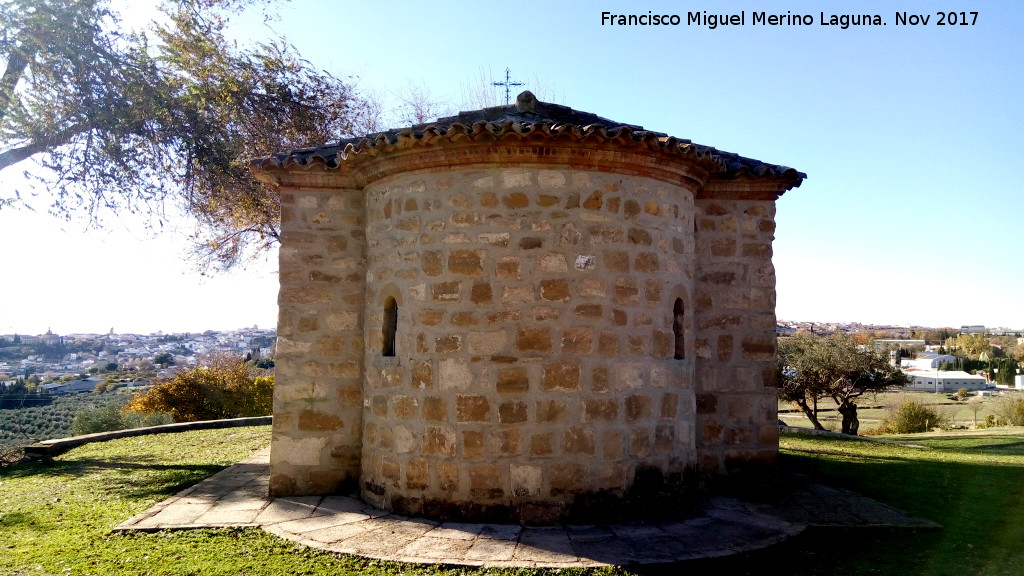
M 553 522 L 692 466 L 702 317 L 690 314 L 692 279 L 707 247 L 694 245 L 690 190 L 489 168 L 393 176 L 365 192 L 364 498 L 411 515 Z M 393 357 L 383 355 L 390 299 Z M 282 335 L 289 345 L 295 332 Z M 307 345 L 329 337 L 311 335 Z M 746 341 L 736 337 L 730 360 Z M 338 342 L 346 359 L 350 343 Z M 722 408 L 730 422 L 753 418 L 731 397 Z

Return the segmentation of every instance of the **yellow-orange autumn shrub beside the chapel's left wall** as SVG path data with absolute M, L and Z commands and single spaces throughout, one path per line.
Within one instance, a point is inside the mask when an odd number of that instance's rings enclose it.
M 265 416 L 273 408 L 273 376 L 260 372 L 241 359 L 213 359 L 208 366 L 155 381 L 125 409 L 166 412 L 177 422 Z

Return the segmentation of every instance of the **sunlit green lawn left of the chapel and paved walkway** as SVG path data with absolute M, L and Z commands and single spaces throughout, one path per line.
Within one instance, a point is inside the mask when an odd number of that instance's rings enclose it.
M 0 468 L 0 575 L 479 572 L 338 556 L 296 545 L 259 529 L 111 533 L 128 518 L 269 442 L 269 426 L 156 435 L 83 446 L 58 456 L 52 464 L 30 462 Z

